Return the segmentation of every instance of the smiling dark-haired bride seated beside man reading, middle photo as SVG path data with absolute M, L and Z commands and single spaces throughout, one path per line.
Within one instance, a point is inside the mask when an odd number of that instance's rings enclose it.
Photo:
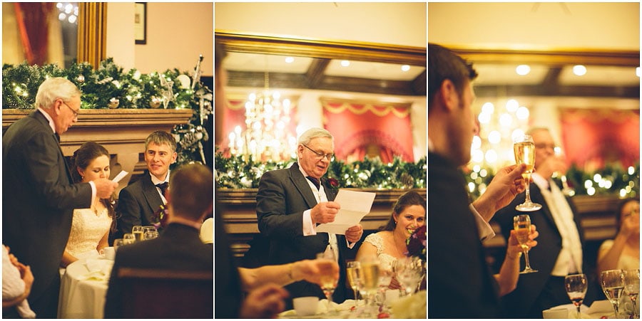
M 392 215 L 388 223 L 363 240 L 357 251 L 356 261 L 366 256 L 376 255 L 380 265 L 391 267 L 397 258 L 405 258 L 406 240 L 419 226 L 426 221 L 426 200 L 416 191 L 407 191 L 399 196 L 392 207 Z M 391 289 L 400 288 L 397 280 L 392 279 Z

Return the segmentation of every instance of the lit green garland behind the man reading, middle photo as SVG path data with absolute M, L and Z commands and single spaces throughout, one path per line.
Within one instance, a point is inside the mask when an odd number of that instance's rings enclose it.
M 296 162 L 265 163 L 245 160 L 242 156 L 224 157 L 215 154 L 215 179 L 218 187 L 228 189 L 257 188 L 263 173 L 273 169 L 284 169 Z M 394 157 L 392 163 L 384 164 L 376 158 L 345 164 L 343 161 L 330 162 L 327 177 L 338 181 L 337 188 L 416 189 L 426 187 L 426 157 L 417 162 L 403 162 Z

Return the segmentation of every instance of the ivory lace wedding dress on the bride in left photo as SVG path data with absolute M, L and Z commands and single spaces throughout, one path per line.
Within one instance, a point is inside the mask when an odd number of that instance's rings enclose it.
M 65 251 L 76 258 L 98 256 L 98 242 L 111 226 L 107 209 L 98 214 L 91 209 L 74 209 L 71 231 Z

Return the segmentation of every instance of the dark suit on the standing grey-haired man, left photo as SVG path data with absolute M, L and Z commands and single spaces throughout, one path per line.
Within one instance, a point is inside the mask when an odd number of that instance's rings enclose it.
M 2 137 L 2 196 L 2 242 L 34 274 L 29 303 L 39 317 L 56 317 L 41 309 L 41 297 L 60 283 L 72 212 L 90 206 L 91 186 L 71 183 L 58 140 L 37 110 Z

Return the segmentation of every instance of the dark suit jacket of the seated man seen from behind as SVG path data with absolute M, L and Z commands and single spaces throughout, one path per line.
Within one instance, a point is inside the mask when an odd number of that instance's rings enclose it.
M 122 317 L 123 309 L 118 303 L 122 293 L 122 281 L 116 277 L 120 268 L 209 271 L 213 273 L 213 248 L 200 241 L 198 233 L 199 231 L 192 226 L 170 223 L 158 238 L 118 247 L 109 278 L 105 300 L 105 318 Z M 149 307 L 152 309 L 155 304 L 171 304 L 171 302 L 154 302 L 153 293 L 150 293 Z

